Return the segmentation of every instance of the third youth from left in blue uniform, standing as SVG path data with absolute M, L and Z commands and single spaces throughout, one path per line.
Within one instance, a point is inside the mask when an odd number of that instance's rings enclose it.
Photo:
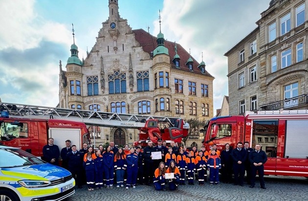
M 106 151 L 103 153 L 104 184 L 106 184 L 107 188 L 113 187 L 113 160 L 113 152 L 111 151 L 111 147 L 108 146 Z

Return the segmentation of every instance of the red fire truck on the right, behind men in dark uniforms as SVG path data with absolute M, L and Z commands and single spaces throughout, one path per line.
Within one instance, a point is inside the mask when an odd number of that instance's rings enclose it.
M 235 148 L 239 141 L 259 143 L 267 155 L 266 175 L 308 177 L 308 110 L 246 112 L 206 122 L 204 145 Z

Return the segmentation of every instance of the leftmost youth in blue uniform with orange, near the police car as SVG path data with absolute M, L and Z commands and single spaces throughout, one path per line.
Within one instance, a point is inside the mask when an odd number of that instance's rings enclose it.
M 91 153 L 87 154 L 87 161 L 84 161 L 84 169 L 86 170 L 88 191 L 94 191 L 95 164 Z

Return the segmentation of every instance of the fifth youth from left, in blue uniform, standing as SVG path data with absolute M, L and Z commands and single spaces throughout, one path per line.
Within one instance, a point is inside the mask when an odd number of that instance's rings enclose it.
M 127 161 L 126 189 L 128 189 L 130 186 L 132 186 L 132 188 L 135 188 L 138 177 L 138 154 L 135 153 L 134 148 L 131 148 L 131 154 L 126 156 L 126 161 Z

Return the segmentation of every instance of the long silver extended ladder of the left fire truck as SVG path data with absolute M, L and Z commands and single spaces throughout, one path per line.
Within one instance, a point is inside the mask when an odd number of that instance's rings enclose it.
M 0 102 L 0 111 L 9 112 L 9 116 L 14 118 L 63 119 L 70 121 L 81 121 L 88 125 L 121 128 L 141 128 L 144 127 L 145 122 L 149 119 L 167 121 L 174 125 L 175 121 L 180 119 L 173 117 L 120 114 L 7 102 Z

